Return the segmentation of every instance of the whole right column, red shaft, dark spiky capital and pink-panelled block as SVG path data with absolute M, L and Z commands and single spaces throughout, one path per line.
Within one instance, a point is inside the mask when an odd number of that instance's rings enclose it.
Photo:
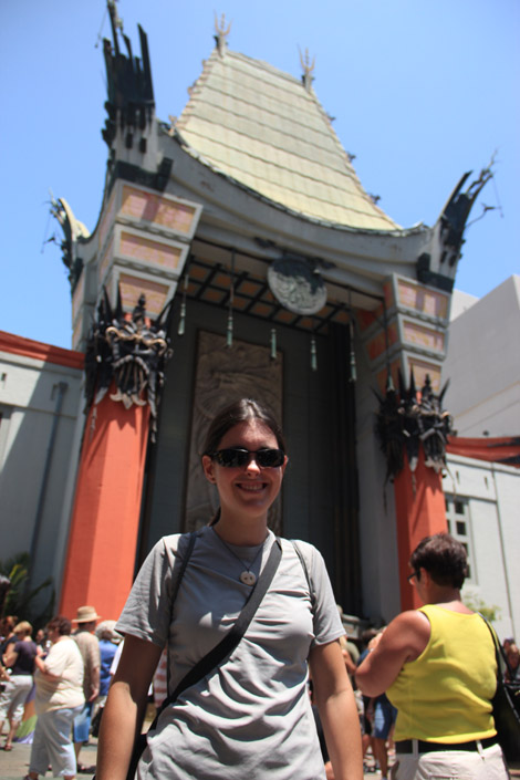
M 394 387 L 399 387 L 399 378 L 409 382 L 413 376 L 417 388 L 424 388 L 426 384 L 426 389 L 438 398 L 446 354 L 449 292 L 396 274 L 388 278 L 384 291 L 385 306 L 379 306 L 375 313 L 358 313 L 362 339 L 381 397 L 386 396 L 388 378 Z M 399 391 L 396 398 L 399 399 Z M 414 414 L 418 418 L 422 415 L 417 412 L 420 392 L 417 396 L 413 392 L 407 401 L 409 406 L 416 404 L 415 412 L 409 410 L 407 417 L 413 422 Z M 401 605 L 407 610 L 418 606 L 415 590 L 406 579 L 409 555 L 420 539 L 446 531 L 447 520 L 439 461 L 425 457 L 423 440 L 417 435 L 418 450 L 410 462 L 405 447 L 409 438 L 403 431 L 398 433 L 406 417 L 399 417 L 402 412 L 395 415 L 388 435 L 393 437 L 392 446 L 395 445 L 394 455 L 398 451 L 402 456 L 401 470 L 389 468 L 389 472 L 394 479 Z

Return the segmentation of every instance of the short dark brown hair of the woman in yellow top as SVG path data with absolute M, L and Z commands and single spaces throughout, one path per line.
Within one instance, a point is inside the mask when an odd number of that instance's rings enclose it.
M 449 533 L 435 533 L 422 539 L 410 555 L 409 564 L 416 572 L 426 569 L 437 585 L 460 589 L 468 575 L 466 549 Z

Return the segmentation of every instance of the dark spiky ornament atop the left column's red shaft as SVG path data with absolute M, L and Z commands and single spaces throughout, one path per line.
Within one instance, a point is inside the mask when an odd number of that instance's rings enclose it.
M 126 319 L 121 293 L 113 311 L 103 289 L 86 345 L 85 397 L 89 409 L 100 403 L 114 382 L 115 393 L 110 396 L 112 401 L 121 402 L 127 409 L 134 404 L 149 405 L 154 441 L 165 364 L 173 353 L 167 336 L 170 306 L 168 304 L 155 322 L 147 324 L 145 303 L 142 294 L 132 319 Z

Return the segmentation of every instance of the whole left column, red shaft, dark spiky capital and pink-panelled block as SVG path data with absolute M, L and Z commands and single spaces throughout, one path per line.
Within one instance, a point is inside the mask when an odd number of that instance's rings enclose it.
M 157 329 L 166 327 L 162 318 L 185 270 L 201 210 L 119 178 L 105 198 L 96 231 L 81 245 L 73 343 L 86 349 L 87 357 L 89 349 L 93 353 L 85 360 L 90 412 L 60 596 L 60 611 L 71 617 L 77 606 L 92 604 L 103 617 L 116 618 L 132 586 L 160 383 L 152 386 L 144 374 L 137 389 L 128 383 L 139 376 L 147 352 L 167 349 L 167 333 Z M 115 385 L 108 387 L 111 379 Z

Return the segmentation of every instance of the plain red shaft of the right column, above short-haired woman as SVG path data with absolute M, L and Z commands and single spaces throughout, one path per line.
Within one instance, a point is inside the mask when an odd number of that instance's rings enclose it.
M 394 482 L 397 548 L 399 554 L 399 585 L 402 610 L 422 605 L 416 590 L 407 581 L 408 560 L 424 537 L 448 530 L 446 503 L 440 474 L 425 466 L 423 448 L 414 479 L 405 454 L 405 467 Z

